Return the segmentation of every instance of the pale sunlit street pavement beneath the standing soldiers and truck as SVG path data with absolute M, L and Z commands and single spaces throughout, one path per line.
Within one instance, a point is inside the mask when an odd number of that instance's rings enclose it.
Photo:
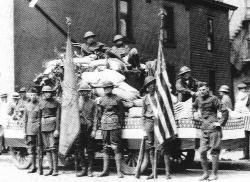
M 224 165 L 224 164 L 222 164 Z M 223 166 L 222 166 L 223 167 Z M 45 172 L 47 169 L 45 169 Z M 100 170 L 99 170 L 100 171 Z M 97 174 L 97 172 L 95 172 Z M 202 174 L 201 169 L 188 169 L 184 172 L 174 172 L 172 174 L 172 179 L 170 182 L 193 182 L 198 181 L 199 176 Z M 230 170 L 220 170 L 218 182 L 223 181 L 236 181 L 236 182 L 249 182 L 250 181 L 250 171 L 247 170 L 236 170 L 233 165 Z M 1 182 L 142 182 L 142 181 L 154 181 L 146 180 L 146 176 L 143 175 L 140 179 L 136 179 L 134 176 L 126 175 L 123 179 L 118 179 L 115 176 L 115 169 L 111 170 L 111 174 L 108 177 L 98 178 L 98 177 L 81 177 L 76 178 L 73 169 L 60 168 L 59 176 L 40 176 L 38 174 L 27 174 L 27 170 L 19 170 L 12 163 L 11 156 L 8 154 L 0 155 L 0 181 Z M 159 176 L 156 181 L 166 181 L 164 178 L 164 171 L 159 170 Z

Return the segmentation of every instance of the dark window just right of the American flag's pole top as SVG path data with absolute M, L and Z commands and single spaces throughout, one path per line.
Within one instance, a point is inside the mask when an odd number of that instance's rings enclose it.
M 175 46 L 175 37 L 174 37 L 174 14 L 172 7 L 164 7 L 167 12 L 163 24 L 163 45 L 164 47 L 173 47 Z

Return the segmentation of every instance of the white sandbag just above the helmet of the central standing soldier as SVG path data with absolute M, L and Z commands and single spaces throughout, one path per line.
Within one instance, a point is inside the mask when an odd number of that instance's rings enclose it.
M 118 85 L 125 80 L 124 75 L 110 69 L 100 72 L 100 76 L 100 84 L 106 81 L 111 81 L 114 85 Z

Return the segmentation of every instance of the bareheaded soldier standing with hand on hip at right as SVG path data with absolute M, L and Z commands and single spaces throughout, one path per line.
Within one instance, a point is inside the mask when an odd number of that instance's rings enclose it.
M 201 138 L 200 138 L 200 158 L 204 174 L 200 181 L 216 180 L 218 174 L 218 162 L 220 154 L 220 144 L 222 138 L 222 129 L 228 119 L 228 110 L 222 105 L 216 96 L 209 94 L 209 88 L 206 83 L 199 84 L 199 97 L 193 103 L 193 116 L 201 120 Z M 220 111 L 222 117 L 217 119 L 217 112 Z M 212 155 L 212 175 L 208 174 L 207 152 L 211 150 Z

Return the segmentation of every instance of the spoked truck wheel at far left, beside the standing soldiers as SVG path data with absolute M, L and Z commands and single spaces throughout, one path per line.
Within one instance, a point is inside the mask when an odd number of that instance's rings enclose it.
M 18 169 L 28 169 L 31 166 L 31 157 L 26 148 L 10 147 L 10 154 Z

